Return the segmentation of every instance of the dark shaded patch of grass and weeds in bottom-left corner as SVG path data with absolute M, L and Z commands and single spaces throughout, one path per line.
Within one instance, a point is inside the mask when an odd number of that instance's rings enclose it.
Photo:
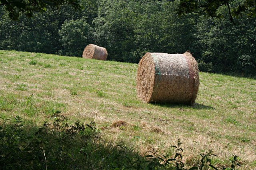
M 143 169 L 146 158 L 125 143 L 105 141 L 94 122 L 69 125 L 66 117 L 37 127 L 22 118 L 0 119 L 3 169 Z M 1 169 L 0 168 L 0 169 Z

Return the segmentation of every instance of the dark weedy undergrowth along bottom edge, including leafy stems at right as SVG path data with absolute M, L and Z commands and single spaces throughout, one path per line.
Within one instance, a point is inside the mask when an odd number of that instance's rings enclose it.
M 236 170 L 241 166 L 238 156 L 230 158 L 227 165 L 213 165 L 216 157 L 211 150 L 200 154 L 197 164 L 188 166 L 182 160 L 183 149 L 180 139 L 173 155 L 160 155 L 153 149 L 145 157 L 126 147 L 104 142 L 101 130 L 95 122 L 71 124 L 68 117 L 56 111 L 51 123 L 42 127 L 24 126 L 22 118 L 14 121 L 0 117 L 0 165 L 2 169 L 104 169 L 104 170 Z M 186 167 L 186 168 L 185 168 Z

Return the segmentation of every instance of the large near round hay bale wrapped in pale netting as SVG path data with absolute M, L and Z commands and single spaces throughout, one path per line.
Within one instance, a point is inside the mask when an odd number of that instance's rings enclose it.
M 188 52 L 146 53 L 136 82 L 137 95 L 144 102 L 193 104 L 199 87 L 198 65 Z

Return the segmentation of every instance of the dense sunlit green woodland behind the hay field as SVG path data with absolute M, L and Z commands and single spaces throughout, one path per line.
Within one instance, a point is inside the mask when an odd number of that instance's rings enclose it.
M 239 0 L 237 0 L 238 2 Z M 233 2 L 234 3 L 234 2 Z M 84 10 L 62 5 L 33 18 L 12 21 L 0 8 L 0 49 L 81 57 L 86 45 L 108 50 L 108 60 L 138 63 L 146 52 L 189 50 L 201 71 L 254 74 L 256 21 L 242 16 L 233 25 L 226 6 L 222 20 L 197 14 L 178 17 L 179 1 L 81 0 Z

